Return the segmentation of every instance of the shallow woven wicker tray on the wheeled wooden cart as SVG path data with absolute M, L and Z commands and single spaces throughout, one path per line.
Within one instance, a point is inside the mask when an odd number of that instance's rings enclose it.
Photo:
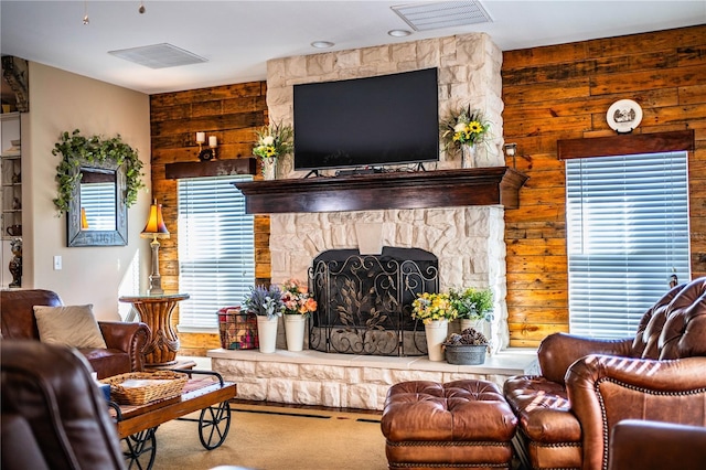
M 145 386 L 126 387 L 127 381 L 154 381 Z M 157 399 L 172 398 L 181 395 L 189 377 L 171 371 L 131 372 L 115 375 L 100 381 L 110 385 L 110 398 L 120 405 L 143 405 Z

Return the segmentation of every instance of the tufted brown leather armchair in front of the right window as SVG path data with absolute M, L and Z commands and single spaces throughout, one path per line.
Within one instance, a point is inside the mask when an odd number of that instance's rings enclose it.
M 706 424 L 706 278 L 670 290 L 635 338 L 556 333 L 537 352 L 542 375 L 511 377 L 515 450 L 534 469 L 608 468 L 617 423 Z

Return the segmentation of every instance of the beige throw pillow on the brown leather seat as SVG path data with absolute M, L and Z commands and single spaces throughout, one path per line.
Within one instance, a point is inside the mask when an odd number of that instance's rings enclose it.
M 34 318 L 43 343 L 72 348 L 107 348 L 93 314 L 93 305 L 34 306 Z

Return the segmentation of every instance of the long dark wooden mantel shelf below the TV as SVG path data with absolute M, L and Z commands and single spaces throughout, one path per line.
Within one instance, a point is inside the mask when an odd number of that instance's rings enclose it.
M 509 167 L 238 182 L 248 214 L 462 205 L 520 206 L 527 177 Z

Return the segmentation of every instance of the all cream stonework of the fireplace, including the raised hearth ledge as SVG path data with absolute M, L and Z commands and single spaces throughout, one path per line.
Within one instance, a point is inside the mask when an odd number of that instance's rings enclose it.
M 460 106 L 470 105 L 472 109 L 481 110 L 491 122 L 491 139 L 479 147 L 479 165 L 502 167 L 505 162 L 501 64 L 502 52 L 484 33 L 271 60 L 267 66 L 269 118 L 271 122 L 292 124 L 295 84 L 438 67 L 439 117 L 443 119 Z M 292 167 L 291 157 L 280 159 L 278 178 L 304 175 Z M 434 171 L 431 167 L 426 164 L 427 170 Z M 441 151 L 435 169 L 454 168 L 460 168 L 460 156 Z M 439 258 L 442 290 L 490 287 L 495 301 L 495 320 L 490 329 L 493 352 L 504 354 L 502 350 L 509 343 L 509 330 L 504 210 L 500 206 L 271 214 L 272 282 L 306 279 L 312 259 L 321 252 L 357 248 L 356 226 L 360 228 L 361 224 L 370 223 L 382 224 L 382 245 L 434 253 Z M 277 346 L 286 346 L 281 322 Z M 215 370 L 238 382 L 242 397 L 327 406 L 379 409 L 385 392 L 393 383 L 473 376 L 473 373 L 461 373 L 462 367 L 432 363 L 426 357 L 341 357 L 307 351 L 303 361 L 289 361 L 287 354 L 285 351 L 266 355 L 215 350 L 210 351 L 208 356 Z M 498 370 L 488 372 L 492 368 L 486 367 L 486 372 L 475 375 L 502 383 L 505 375 Z

